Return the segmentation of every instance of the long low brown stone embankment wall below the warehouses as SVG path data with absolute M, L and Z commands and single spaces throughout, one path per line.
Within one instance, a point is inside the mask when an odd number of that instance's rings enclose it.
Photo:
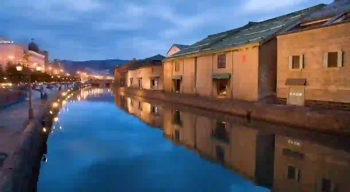
M 166 102 L 244 116 L 252 119 L 280 123 L 329 133 L 350 134 L 350 112 L 329 109 L 311 109 L 300 106 L 270 105 L 266 103 L 214 99 L 198 95 L 168 93 L 161 90 L 116 88 L 126 93 Z

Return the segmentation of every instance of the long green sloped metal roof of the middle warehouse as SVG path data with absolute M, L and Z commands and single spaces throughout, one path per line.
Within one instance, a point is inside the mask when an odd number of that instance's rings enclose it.
M 173 54 L 167 59 L 180 58 L 194 53 L 210 52 L 228 47 L 260 42 L 262 39 L 269 38 L 271 35 L 276 34 L 276 32 L 287 29 L 290 25 L 300 21 L 304 16 L 314 13 L 316 10 L 323 8 L 324 6 L 324 4 L 320 4 L 266 21 L 248 22 L 243 27 L 209 35 L 207 38 L 190 45 L 186 49 Z

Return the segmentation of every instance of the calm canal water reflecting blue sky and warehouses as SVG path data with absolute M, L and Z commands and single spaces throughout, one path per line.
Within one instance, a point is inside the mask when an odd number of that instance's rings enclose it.
M 39 192 L 350 191 L 346 137 L 99 88 L 57 115 Z

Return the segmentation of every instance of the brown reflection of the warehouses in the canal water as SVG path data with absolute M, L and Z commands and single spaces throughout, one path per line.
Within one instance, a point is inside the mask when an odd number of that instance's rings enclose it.
M 276 125 L 220 120 L 212 112 L 203 115 L 188 108 L 172 109 L 140 97 L 114 94 L 114 103 L 149 126 L 162 128 L 174 145 L 183 145 L 273 192 L 350 191 L 350 145 L 346 138 L 318 138 L 318 133 L 307 136 L 295 128 L 290 136 L 271 131 Z M 341 144 L 330 145 L 329 141 Z

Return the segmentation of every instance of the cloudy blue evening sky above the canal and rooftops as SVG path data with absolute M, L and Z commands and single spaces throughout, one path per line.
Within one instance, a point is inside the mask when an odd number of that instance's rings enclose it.
M 142 59 L 173 44 L 333 0 L 6 0 L 0 35 L 49 51 L 49 59 Z

